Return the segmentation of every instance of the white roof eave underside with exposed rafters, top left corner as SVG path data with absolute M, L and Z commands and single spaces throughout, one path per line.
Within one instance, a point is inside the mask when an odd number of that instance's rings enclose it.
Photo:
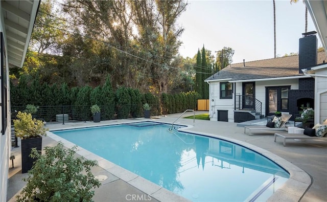
M 21 67 L 32 35 L 40 1 L 1 1 L 8 63 Z

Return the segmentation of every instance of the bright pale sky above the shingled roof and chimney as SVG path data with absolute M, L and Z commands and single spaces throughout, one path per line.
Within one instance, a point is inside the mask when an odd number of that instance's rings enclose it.
M 193 57 L 198 49 L 235 50 L 232 63 L 274 57 L 273 3 L 261 1 L 188 1 L 179 17 L 184 28 L 179 53 Z M 276 0 L 276 54 L 298 53 L 298 40 L 305 32 L 305 4 Z M 308 32 L 316 31 L 308 12 Z M 318 47 L 321 42 L 318 37 Z

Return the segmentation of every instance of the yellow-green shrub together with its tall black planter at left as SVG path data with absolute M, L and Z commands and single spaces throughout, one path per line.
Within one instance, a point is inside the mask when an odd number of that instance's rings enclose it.
M 43 121 L 32 118 L 31 114 L 18 111 L 17 119 L 13 120 L 15 136 L 21 139 L 21 172 L 28 172 L 35 161 L 29 155 L 35 148 L 41 152 L 42 136 L 46 136 Z

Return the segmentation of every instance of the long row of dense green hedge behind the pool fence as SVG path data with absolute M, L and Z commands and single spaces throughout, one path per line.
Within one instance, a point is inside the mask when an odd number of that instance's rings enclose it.
M 113 90 L 109 77 L 102 86 L 92 88 L 69 88 L 66 83 L 58 86 L 40 83 L 38 79 L 30 81 L 21 77 L 17 85 L 10 86 L 11 106 L 74 106 L 75 111 L 85 111 L 85 119 L 90 117 L 90 106 L 98 104 L 101 107 L 101 120 L 111 120 L 114 116 L 120 119 L 143 116 L 142 105 L 148 103 L 157 114 L 173 114 L 185 109 L 196 109 L 196 92 L 180 94 L 162 94 L 161 97 L 151 93 L 142 94 L 138 89 L 119 87 Z M 60 111 L 57 112 L 60 114 Z

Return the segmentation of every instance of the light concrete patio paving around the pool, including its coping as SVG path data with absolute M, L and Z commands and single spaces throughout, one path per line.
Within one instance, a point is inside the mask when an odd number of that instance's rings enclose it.
M 197 111 L 196 114 L 203 114 L 205 111 Z M 180 114 L 168 115 L 167 117 L 158 117 L 153 121 L 172 123 Z M 186 113 L 185 116 L 193 115 Z M 117 124 L 123 122 L 134 122 L 149 119 L 127 119 L 111 120 L 99 123 L 78 122 L 63 124 L 48 124 L 50 130 L 61 128 L 76 128 L 83 126 Z M 179 119 L 176 123 L 193 125 L 192 119 Z M 239 144 L 248 146 L 260 153 L 263 153 L 279 165 L 285 167 L 290 173 L 291 178 L 287 183 L 278 189 L 269 199 L 270 201 L 327 201 L 327 142 L 325 141 L 305 141 L 298 142 L 289 140 L 284 147 L 282 141 L 274 143 L 273 134 L 254 134 L 248 136 L 244 134 L 244 128 L 238 127 L 237 123 L 227 123 L 218 121 L 195 120 L 194 127 L 189 131 L 206 134 L 213 137 L 232 139 Z M 55 140 L 54 140 L 55 139 Z M 56 137 L 44 137 L 42 146 L 56 145 Z M 20 143 L 19 143 L 20 145 Z M 66 144 L 65 144 L 66 145 Z M 12 148 L 12 154 L 15 155 L 14 168 L 9 168 L 8 183 L 8 201 L 15 201 L 15 195 L 20 192 L 25 182 L 22 178 L 27 173 L 21 173 L 20 147 Z M 80 150 L 79 154 L 86 158 L 95 159 L 96 156 Z M 164 188 L 148 183 L 142 177 L 115 166 L 103 159 L 97 159 L 100 167 L 92 169 L 94 175 L 106 175 L 107 179 L 102 181 L 102 186 L 95 190 L 95 201 L 131 201 L 133 196 L 138 196 L 138 201 L 181 201 L 185 200 Z M 286 161 L 285 161 L 286 160 Z M 141 191 L 142 190 L 142 191 Z M 151 194 L 149 198 L 148 194 Z

